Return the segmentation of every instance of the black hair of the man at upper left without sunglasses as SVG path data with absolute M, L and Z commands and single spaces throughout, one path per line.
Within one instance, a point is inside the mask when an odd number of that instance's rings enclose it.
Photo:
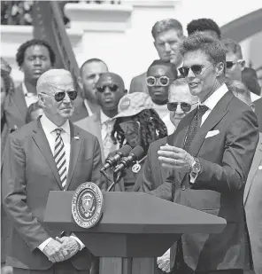
M 24 59 L 25 59 L 25 52 L 27 51 L 27 48 L 34 46 L 34 45 L 42 45 L 44 47 L 46 47 L 50 53 L 50 61 L 52 66 L 55 65 L 56 62 L 56 55 L 55 52 L 53 51 L 53 49 L 51 48 L 50 44 L 47 43 L 45 40 L 41 40 L 41 39 L 31 39 L 28 40 L 25 43 L 22 43 L 19 46 L 18 52 L 16 54 L 16 61 L 19 65 L 19 67 L 21 67 L 24 63 Z

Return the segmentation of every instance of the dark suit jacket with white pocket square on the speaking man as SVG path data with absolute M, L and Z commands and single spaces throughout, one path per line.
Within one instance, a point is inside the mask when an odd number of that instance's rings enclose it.
M 187 114 L 179 123 L 173 134 L 174 146 L 183 147 L 196 111 Z M 219 134 L 206 137 L 211 130 L 219 130 Z M 184 261 L 192 270 L 243 269 L 243 190 L 257 144 L 256 115 L 227 91 L 190 146 L 189 153 L 201 163 L 195 184 L 189 184 L 186 171 L 173 171 L 173 177 L 169 176 L 165 184 L 150 192 L 227 220 L 227 227 L 220 234 L 182 235 Z M 173 247 L 172 260 L 175 251 Z

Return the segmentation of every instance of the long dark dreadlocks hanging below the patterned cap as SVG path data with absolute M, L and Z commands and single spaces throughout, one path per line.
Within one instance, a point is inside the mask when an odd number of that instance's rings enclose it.
M 154 109 L 143 109 L 141 113 L 131 118 L 140 123 L 141 146 L 145 153 L 147 153 L 152 142 L 167 136 L 166 124 Z M 111 133 L 113 143 L 115 145 L 119 143 L 120 147 L 124 145 L 126 140 L 125 133 L 119 126 L 121 121 L 121 117 L 116 119 Z

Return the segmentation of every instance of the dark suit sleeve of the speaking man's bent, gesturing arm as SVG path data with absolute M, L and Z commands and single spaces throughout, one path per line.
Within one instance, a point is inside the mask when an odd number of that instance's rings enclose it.
M 238 114 L 227 128 L 222 165 L 199 159 L 201 171 L 193 188 L 216 192 L 243 189 L 258 145 L 258 120 L 247 110 Z

